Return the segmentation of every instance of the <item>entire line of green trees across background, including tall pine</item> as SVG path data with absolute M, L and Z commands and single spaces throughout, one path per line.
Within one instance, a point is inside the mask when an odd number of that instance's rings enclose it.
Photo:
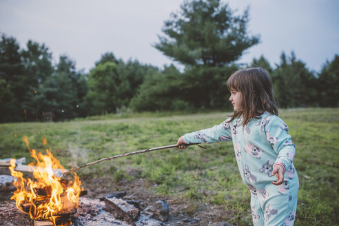
M 310 71 L 294 52 L 280 55 L 272 67 L 265 56 L 235 63 L 260 41 L 249 35 L 248 10 L 234 15 L 219 0 L 185 1 L 165 21 L 154 48 L 181 64 L 159 69 L 138 60 L 124 62 L 113 52 L 102 54 L 85 73 L 62 55 L 52 62 L 44 43 L 28 41 L 20 48 L 14 37 L 1 33 L 0 122 L 54 121 L 96 114 L 162 110 L 230 110 L 225 83 L 241 68 L 261 67 L 271 75 L 279 107 L 337 107 L 339 56 L 320 72 Z

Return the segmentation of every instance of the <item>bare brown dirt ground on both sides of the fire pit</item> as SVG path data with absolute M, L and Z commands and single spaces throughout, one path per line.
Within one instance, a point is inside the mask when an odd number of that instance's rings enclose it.
M 82 180 L 84 189 L 88 191 L 88 198 L 101 198 L 106 194 L 125 191 L 126 199 L 139 201 L 141 209 L 153 205 L 156 201 L 164 200 L 170 208 L 170 217 L 167 225 L 210 225 L 210 226 L 232 226 L 228 223 L 227 212 L 222 206 L 209 205 L 208 203 L 192 203 L 192 201 L 170 196 L 157 196 L 150 192 L 154 186 L 143 178 L 134 181 L 120 181 L 114 185 L 107 185 L 107 178 L 95 178 Z M 0 225 L 32 225 L 32 220 L 21 213 L 10 200 L 14 186 L 0 190 Z M 236 224 L 234 224 L 236 225 Z

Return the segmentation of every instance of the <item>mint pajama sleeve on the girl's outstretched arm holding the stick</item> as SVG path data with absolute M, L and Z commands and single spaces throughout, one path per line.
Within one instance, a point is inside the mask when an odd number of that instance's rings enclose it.
M 185 143 L 214 143 L 219 141 L 232 141 L 231 124 L 224 121 L 214 127 L 185 134 Z

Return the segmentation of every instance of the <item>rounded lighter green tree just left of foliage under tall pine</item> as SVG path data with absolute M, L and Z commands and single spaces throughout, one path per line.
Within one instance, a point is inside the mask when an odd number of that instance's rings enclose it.
M 144 77 L 156 71 L 156 68 L 141 65 L 138 61 L 99 63 L 88 76 L 85 105 L 89 114 L 112 113 L 129 105 Z

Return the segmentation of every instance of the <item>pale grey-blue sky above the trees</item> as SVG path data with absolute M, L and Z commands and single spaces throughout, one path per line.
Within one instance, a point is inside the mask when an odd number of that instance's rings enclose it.
M 250 6 L 249 34 L 260 43 L 249 48 L 239 63 L 264 55 L 272 66 L 281 52 L 320 71 L 339 54 L 338 0 L 230 0 L 236 13 Z M 101 54 L 137 59 L 162 68 L 172 60 L 152 45 L 162 34 L 164 21 L 180 9 L 183 0 L 0 0 L 0 32 L 17 39 L 21 48 L 29 39 L 45 43 L 54 56 L 67 54 L 77 70 L 94 67 Z

